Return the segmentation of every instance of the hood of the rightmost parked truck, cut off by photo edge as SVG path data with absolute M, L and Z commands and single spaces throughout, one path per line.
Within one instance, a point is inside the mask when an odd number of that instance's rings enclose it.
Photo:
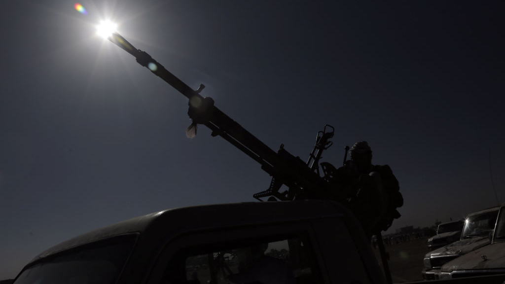
M 453 270 L 505 268 L 504 250 L 505 242 L 490 244 L 447 262 L 441 270 L 451 272 Z

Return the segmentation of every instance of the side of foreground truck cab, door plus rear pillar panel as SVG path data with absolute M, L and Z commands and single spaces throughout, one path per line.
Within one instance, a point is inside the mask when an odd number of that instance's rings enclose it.
M 147 283 L 384 283 L 359 232 L 341 215 L 187 232 L 167 242 Z

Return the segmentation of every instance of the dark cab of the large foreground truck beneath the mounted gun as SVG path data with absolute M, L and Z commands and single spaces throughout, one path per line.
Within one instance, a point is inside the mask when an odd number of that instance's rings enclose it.
M 42 252 L 15 284 L 384 283 L 355 216 L 331 201 L 194 206 Z

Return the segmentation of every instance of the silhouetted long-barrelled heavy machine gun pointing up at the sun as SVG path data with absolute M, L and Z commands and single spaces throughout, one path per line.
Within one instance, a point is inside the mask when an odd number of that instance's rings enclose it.
M 323 150 L 332 145 L 332 142 L 329 141 L 333 137 L 334 128 L 332 126 L 326 125 L 323 131 L 318 132 L 316 145 L 307 163 L 284 150 L 283 145 L 276 153 L 214 106 L 214 101 L 211 98 L 200 96 L 199 93 L 205 87 L 204 85 L 193 90 L 146 52 L 136 49 L 117 32 L 114 32 L 109 40 L 134 56 L 140 65 L 149 69 L 188 98 L 188 115 L 193 121 L 191 126 L 206 125 L 212 130 L 212 136 L 223 137 L 261 164 L 262 169 L 272 176 L 272 181 L 266 191 L 255 194 L 254 198 L 262 201 L 261 198 L 268 196 L 274 196 L 279 200 L 321 197 L 323 189 L 327 188 L 327 181 L 319 175 L 319 159 Z M 289 190 L 279 193 L 282 184 L 285 184 Z

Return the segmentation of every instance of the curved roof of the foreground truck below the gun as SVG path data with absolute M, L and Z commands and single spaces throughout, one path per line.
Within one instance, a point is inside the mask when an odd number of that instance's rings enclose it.
M 157 242 L 194 229 L 237 227 L 329 216 L 339 216 L 345 219 L 348 225 L 359 226 L 357 219 L 348 209 L 336 202 L 322 200 L 246 202 L 168 209 L 81 234 L 40 253 L 30 264 L 81 245 L 127 233 L 139 233 L 139 238 L 142 238 L 144 243 Z

